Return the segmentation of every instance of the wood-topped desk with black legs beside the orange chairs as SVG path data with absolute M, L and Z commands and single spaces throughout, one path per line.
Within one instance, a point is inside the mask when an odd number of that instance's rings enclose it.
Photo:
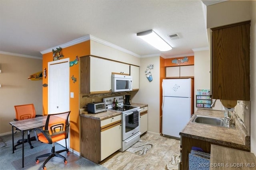
M 37 127 L 44 127 L 47 116 L 35 117 L 32 119 L 24 119 L 19 121 L 11 121 L 12 125 L 12 153 L 14 153 L 14 130 L 17 128 L 22 132 L 22 168 L 24 168 L 24 132 L 33 130 Z

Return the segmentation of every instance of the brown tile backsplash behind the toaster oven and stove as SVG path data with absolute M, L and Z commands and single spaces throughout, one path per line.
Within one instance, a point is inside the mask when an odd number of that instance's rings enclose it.
M 79 96 L 79 108 L 87 106 L 88 103 L 102 102 L 103 98 L 111 96 L 124 96 L 130 95 L 131 92 L 119 92 L 119 93 L 101 93 L 101 94 L 80 94 Z

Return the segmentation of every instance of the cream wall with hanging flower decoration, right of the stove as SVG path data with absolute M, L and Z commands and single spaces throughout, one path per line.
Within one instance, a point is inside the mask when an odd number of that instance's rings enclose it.
M 149 82 L 145 70 L 149 64 L 154 64 L 151 70 L 153 77 Z M 160 134 L 160 57 L 140 59 L 140 90 L 132 92 L 132 103 L 148 104 L 148 132 Z

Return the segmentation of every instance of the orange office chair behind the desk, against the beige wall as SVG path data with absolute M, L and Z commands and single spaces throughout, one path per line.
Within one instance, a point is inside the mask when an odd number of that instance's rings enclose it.
M 36 115 L 36 110 L 34 107 L 34 104 L 24 104 L 24 105 L 18 105 L 14 106 L 16 111 L 16 118 L 14 121 L 23 120 L 23 119 L 31 119 L 35 117 L 39 117 L 42 115 Z M 24 143 L 29 143 L 30 148 L 34 148 L 31 144 L 31 141 L 36 141 L 35 137 L 30 138 L 30 131 L 28 131 L 28 139 L 24 139 Z M 16 147 L 18 145 L 22 145 L 22 139 L 19 139 L 17 141 L 17 145 L 14 146 L 14 150 L 16 150 Z

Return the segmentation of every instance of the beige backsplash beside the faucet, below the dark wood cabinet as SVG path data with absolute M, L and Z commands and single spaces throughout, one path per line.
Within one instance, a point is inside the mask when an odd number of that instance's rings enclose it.
M 235 112 L 244 123 L 248 134 L 250 134 L 250 101 L 238 100 Z

